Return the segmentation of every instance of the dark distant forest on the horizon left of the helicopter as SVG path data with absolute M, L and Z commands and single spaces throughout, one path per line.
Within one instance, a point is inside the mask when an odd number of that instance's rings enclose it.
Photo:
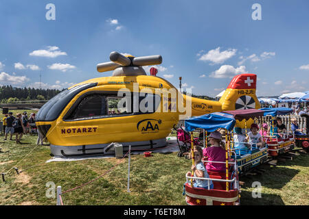
M 13 88 L 12 86 L 0 87 L 0 102 L 12 103 L 16 101 L 49 100 L 60 93 L 55 89 Z

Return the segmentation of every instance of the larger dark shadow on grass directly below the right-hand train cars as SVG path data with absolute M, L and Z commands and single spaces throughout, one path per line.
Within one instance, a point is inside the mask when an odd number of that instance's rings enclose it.
M 269 168 L 261 175 L 242 177 L 240 181 L 245 182 L 242 188 L 251 188 L 252 183 L 258 181 L 263 187 L 280 190 L 286 183 L 293 179 L 297 173 L 299 173 L 299 170 L 276 166 Z

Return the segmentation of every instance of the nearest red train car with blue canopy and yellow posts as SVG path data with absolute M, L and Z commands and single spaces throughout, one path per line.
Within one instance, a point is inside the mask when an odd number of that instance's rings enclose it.
M 194 131 L 194 129 L 204 129 L 205 131 L 216 131 L 216 129 L 223 128 L 231 131 L 235 125 L 236 120 L 229 114 L 212 113 L 203 116 L 198 116 L 185 120 L 185 130 Z M 227 137 L 226 137 L 227 138 Z M 191 133 L 191 143 L 193 151 L 193 133 Z M 228 143 L 229 144 L 229 143 Z M 239 205 L 239 179 L 238 166 L 235 159 L 231 159 L 228 152 L 229 145 L 226 144 L 226 159 L 225 172 L 207 171 L 209 178 L 190 177 L 186 175 L 187 182 L 184 186 L 185 201 L 187 205 Z M 192 153 L 193 155 L 193 153 Z M 203 160 L 204 165 L 210 161 Z M 215 163 L 215 162 L 214 162 Z M 194 156 L 192 157 L 192 164 L 194 164 Z M 208 189 L 194 187 L 192 181 L 194 179 L 203 179 L 208 183 Z M 209 188 L 209 181 L 214 183 L 214 188 Z

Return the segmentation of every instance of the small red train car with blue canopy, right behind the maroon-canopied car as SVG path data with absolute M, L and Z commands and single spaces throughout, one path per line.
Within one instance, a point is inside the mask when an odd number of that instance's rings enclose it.
M 277 157 L 278 155 L 282 155 L 284 153 L 288 153 L 295 148 L 295 139 L 293 133 L 275 133 L 273 117 L 286 115 L 293 112 L 293 110 L 285 107 L 281 108 L 262 108 L 260 109 L 264 111 L 264 116 L 271 116 L 271 134 L 268 136 L 262 136 L 263 140 L 268 145 L 268 155 L 271 157 Z

